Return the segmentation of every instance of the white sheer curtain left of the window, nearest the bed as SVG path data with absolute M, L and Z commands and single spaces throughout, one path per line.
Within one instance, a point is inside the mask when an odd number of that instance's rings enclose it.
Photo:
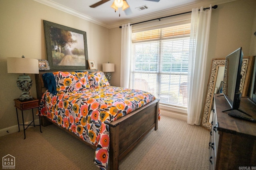
M 132 25 L 122 25 L 120 86 L 129 88 L 132 53 Z

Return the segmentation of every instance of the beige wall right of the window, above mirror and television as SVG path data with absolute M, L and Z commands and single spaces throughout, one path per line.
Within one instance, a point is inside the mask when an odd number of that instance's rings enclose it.
M 255 0 L 237 0 L 220 4 L 212 10 L 204 94 L 212 59 L 225 58 L 239 47 L 242 47 L 244 56 L 256 55 L 255 14 Z

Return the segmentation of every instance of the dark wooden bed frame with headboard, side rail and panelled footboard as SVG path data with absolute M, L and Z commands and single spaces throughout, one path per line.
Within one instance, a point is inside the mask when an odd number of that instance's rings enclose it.
M 46 91 L 46 88 L 44 87 L 44 82 L 42 80 L 42 74 L 46 72 L 56 72 L 56 71 L 72 72 L 74 70 L 44 70 L 44 71 L 40 71 L 39 74 L 35 74 L 36 92 L 37 92 L 37 98 L 39 100 L 42 98 L 42 94 Z M 79 71 L 94 72 L 97 70 L 79 70 Z M 158 129 L 158 111 L 159 111 L 159 100 L 156 99 L 146 104 L 145 106 L 141 107 L 140 109 L 137 109 L 136 111 L 133 111 L 128 115 L 125 115 L 120 119 L 110 123 L 110 152 L 109 152 L 110 170 L 118 170 L 119 160 L 124 158 L 124 156 L 126 156 L 126 154 L 128 154 L 128 152 L 130 152 L 130 150 L 132 150 L 149 131 L 151 131 L 151 129 L 155 128 L 154 129 L 155 131 Z M 41 125 L 43 126 L 52 124 L 52 121 L 50 121 L 50 119 L 47 119 L 45 116 L 42 116 L 40 120 L 41 120 Z M 53 124 L 56 124 L 56 123 L 53 123 Z M 70 133 L 71 135 L 75 136 L 79 140 L 83 141 L 74 133 L 67 131 L 62 127 L 60 128 Z M 93 149 L 96 149 L 96 146 L 91 145 L 85 141 L 83 142 L 89 145 L 90 147 L 92 147 Z

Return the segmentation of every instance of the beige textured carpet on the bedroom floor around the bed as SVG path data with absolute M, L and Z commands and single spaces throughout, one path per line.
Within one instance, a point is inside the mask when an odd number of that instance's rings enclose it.
M 55 125 L 31 127 L 0 137 L 0 158 L 11 154 L 18 170 L 99 170 L 94 150 Z M 206 129 L 162 116 L 148 135 L 120 161 L 120 170 L 206 170 L 210 139 Z

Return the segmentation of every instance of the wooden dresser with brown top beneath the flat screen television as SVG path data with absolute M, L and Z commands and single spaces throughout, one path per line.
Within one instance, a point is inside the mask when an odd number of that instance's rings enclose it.
M 224 96 L 215 94 L 210 132 L 210 170 L 256 169 L 256 123 L 231 117 Z M 256 105 L 241 98 L 240 108 L 256 118 Z

